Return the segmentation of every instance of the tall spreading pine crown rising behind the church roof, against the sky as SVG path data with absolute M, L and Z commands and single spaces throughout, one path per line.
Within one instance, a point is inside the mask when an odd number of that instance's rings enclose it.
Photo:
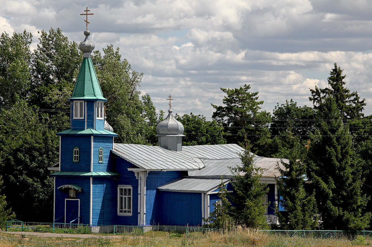
M 249 140 L 252 149 L 259 155 L 266 152 L 267 141 L 270 139 L 269 123 L 270 113 L 260 111 L 263 101 L 258 101 L 258 92 L 249 92 L 250 85 L 240 88 L 221 90 L 227 95 L 222 102 L 224 106 L 212 104 L 215 112 L 212 117 L 221 121 L 227 136 L 228 143 L 240 143 L 245 146 L 245 140 Z

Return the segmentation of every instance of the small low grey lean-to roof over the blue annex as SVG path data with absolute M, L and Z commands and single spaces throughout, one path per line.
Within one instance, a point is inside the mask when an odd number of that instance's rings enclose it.
M 230 179 L 224 179 L 223 183 Z M 221 184 L 221 179 L 182 178 L 158 187 L 159 190 L 172 192 L 206 193 Z

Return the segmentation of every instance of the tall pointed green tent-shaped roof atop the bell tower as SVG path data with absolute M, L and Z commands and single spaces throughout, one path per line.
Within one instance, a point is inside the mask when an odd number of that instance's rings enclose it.
M 96 71 L 94 70 L 90 57 L 83 58 L 74 91 L 72 92 L 71 98 L 69 98 L 69 100 L 76 99 L 100 99 L 102 101 L 107 101 L 102 95 L 102 90 L 99 86 Z

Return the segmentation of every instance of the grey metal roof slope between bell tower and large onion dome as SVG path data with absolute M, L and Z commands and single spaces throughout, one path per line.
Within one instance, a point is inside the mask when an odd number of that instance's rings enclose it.
M 149 170 L 187 170 L 204 167 L 200 159 L 159 146 L 114 143 L 112 152 L 140 168 Z

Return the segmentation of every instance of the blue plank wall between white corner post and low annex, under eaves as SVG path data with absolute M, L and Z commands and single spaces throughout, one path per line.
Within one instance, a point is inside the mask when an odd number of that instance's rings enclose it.
M 181 177 L 180 171 L 151 171 L 146 179 L 146 225 L 157 224 L 157 215 L 163 213 L 159 206 L 159 191 L 157 187 L 170 183 Z

